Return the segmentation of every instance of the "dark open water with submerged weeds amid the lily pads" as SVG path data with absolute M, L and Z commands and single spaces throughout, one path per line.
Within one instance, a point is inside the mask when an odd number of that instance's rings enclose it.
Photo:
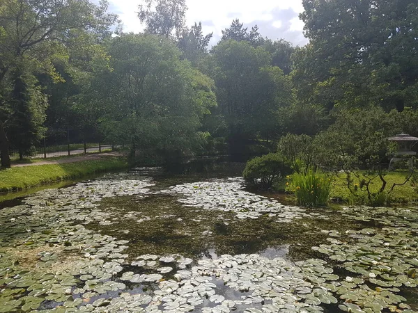
M 146 198 L 107 198 L 100 203 L 100 210 L 109 215 L 111 223 L 95 222 L 86 227 L 129 241 L 126 252 L 132 257 L 146 253 L 201 257 L 210 255 L 210 250 L 217 255 L 236 255 L 287 245 L 288 253 L 281 255 L 299 260 L 315 253 L 311 244 L 325 242 L 327 234 L 321 232 L 322 227 L 331 226 L 328 220 L 316 218 L 281 223 L 268 212 L 258 218 L 239 219 L 235 211 L 185 206 L 179 197 L 159 193 Z

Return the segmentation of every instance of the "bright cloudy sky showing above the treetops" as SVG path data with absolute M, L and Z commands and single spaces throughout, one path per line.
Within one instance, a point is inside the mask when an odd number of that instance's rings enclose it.
M 140 0 L 109 0 L 109 11 L 119 15 L 125 32 L 144 29 L 137 17 Z M 186 0 L 187 25 L 202 22 L 203 33 L 212 33 L 211 45 L 221 37 L 222 30 L 238 18 L 246 27 L 258 25 L 261 35 L 272 40 L 284 38 L 293 45 L 306 45 L 303 35 L 302 0 Z

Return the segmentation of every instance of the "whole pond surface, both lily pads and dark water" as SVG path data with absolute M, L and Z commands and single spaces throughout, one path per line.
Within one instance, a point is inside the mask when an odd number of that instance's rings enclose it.
M 137 168 L 0 202 L 0 312 L 418 312 L 417 208 L 304 209 L 240 172 Z

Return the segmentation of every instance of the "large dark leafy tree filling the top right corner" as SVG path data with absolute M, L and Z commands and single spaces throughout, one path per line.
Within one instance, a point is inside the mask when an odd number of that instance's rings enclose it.
M 303 5 L 310 43 L 295 62 L 301 99 L 331 108 L 417 106 L 415 0 L 304 0 Z

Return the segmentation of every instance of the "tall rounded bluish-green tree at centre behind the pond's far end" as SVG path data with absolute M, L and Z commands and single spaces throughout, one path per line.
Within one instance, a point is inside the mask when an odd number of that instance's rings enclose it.
M 245 141 L 257 136 L 272 138 L 279 108 L 291 102 L 291 88 L 279 67 L 270 65 L 268 52 L 229 40 L 214 47 L 212 58 L 219 114 L 233 152 L 242 152 Z

